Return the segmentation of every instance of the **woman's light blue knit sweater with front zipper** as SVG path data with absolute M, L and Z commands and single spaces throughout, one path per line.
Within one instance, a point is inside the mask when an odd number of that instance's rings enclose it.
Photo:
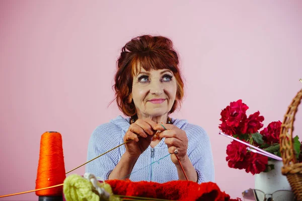
M 172 122 L 187 134 L 189 141 L 187 154 L 198 174 L 198 183 L 214 182 L 212 150 L 206 132 L 199 126 L 189 124 L 187 120 L 172 119 Z M 125 119 L 121 116 L 98 126 L 89 140 L 87 160 L 123 143 L 123 137 L 129 126 L 129 118 Z M 164 140 L 162 139 L 155 148 L 149 146 L 139 156 L 130 175 L 131 181 L 164 183 L 178 180 L 177 169 L 168 155 L 168 147 Z M 123 153 L 125 153 L 124 145 L 86 164 L 86 172 L 107 180 Z M 153 164 L 150 165 L 151 163 Z

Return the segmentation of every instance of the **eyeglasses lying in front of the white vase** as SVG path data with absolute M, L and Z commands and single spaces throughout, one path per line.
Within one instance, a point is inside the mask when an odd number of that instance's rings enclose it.
M 294 194 L 290 190 L 276 190 L 268 194 L 258 189 L 248 189 L 242 192 L 244 201 L 290 201 L 295 200 Z

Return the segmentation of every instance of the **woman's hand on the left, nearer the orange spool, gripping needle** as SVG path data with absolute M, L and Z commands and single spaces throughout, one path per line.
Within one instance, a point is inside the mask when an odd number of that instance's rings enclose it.
M 124 136 L 124 142 L 132 140 L 125 144 L 126 152 L 130 158 L 138 158 L 144 150 L 150 145 L 152 137 L 155 134 L 153 129 L 157 125 L 152 120 L 136 120 L 130 125 Z

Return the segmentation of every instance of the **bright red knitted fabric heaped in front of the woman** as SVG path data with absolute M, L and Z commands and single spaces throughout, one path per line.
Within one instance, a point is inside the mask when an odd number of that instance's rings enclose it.
M 198 184 L 193 181 L 169 181 L 157 183 L 149 181 L 133 182 L 130 180 L 107 180 L 114 194 L 140 196 L 171 200 L 205 200 L 205 201 L 235 201 L 230 195 L 220 191 L 216 183 Z

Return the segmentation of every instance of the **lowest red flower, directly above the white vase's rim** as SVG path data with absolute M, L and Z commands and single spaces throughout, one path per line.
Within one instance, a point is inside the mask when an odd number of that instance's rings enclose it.
M 246 172 L 251 172 L 253 175 L 258 174 L 266 169 L 268 158 L 261 154 L 250 152 L 247 162 Z

